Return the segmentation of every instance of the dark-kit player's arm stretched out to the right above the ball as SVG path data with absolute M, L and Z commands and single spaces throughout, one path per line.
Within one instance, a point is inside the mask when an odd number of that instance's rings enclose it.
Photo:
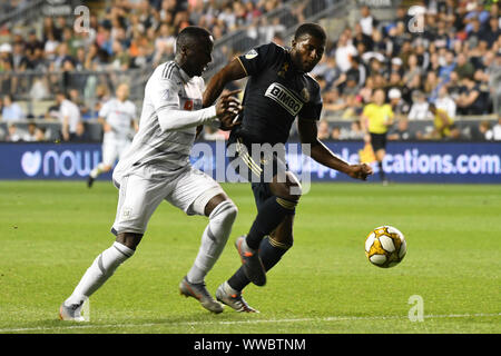
M 298 131 L 301 142 L 310 145 L 311 157 L 318 164 L 328 168 L 342 171 L 354 179 L 367 179 L 367 176 L 372 175 L 372 168 L 369 165 L 350 165 L 333 151 L 331 151 L 322 141 L 317 138 L 317 127 L 315 120 L 298 120 Z

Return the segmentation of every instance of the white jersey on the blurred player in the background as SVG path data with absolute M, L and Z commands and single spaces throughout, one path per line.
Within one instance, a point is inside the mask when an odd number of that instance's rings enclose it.
M 106 132 L 105 136 L 126 140 L 134 135 L 132 122 L 136 119 L 136 106 L 132 101 L 110 99 L 99 110 L 99 117 L 105 118 L 111 127 L 111 131 Z

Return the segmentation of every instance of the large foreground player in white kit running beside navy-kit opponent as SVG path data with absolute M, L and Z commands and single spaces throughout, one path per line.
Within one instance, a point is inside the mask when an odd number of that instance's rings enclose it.
M 203 307 L 223 312 L 205 287 L 205 276 L 223 251 L 237 208 L 219 184 L 189 164 L 196 127 L 219 123 L 232 128 L 242 110 L 232 97 L 223 95 L 215 106 L 202 108 L 204 80 L 199 77 L 212 60 L 213 37 L 199 27 L 187 27 L 176 41 L 174 61 L 156 68 L 145 88 L 145 100 L 132 145 L 114 171 L 119 188 L 117 215 L 111 231 L 117 236 L 87 269 L 73 293 L 60 306 L 63 320 L 84 322 L 81 308 L 130 258 L 140 243 L 149 218 L 167 200 L 187 215 L 205 215 L 209 221 L 202 235 L 195 263 L 179 284 L 180 293 Z

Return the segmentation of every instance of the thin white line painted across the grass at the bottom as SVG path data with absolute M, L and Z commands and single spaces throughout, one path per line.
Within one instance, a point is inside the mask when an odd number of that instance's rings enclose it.
M 444 319 L 444 318 L 481 318 L 481 317 L 499 317 L 501 313 L 494 314 L 449 314 L 449 315 L 425 315 L 425 319 Z M 357 322 L 357 320 L 391 320 L 391 319 L 407 319 L 407 316 L 373 316 L 373 317 L 357 317 L 357 316 L 333 316 L 324 318 L 293 318 L 293 319 L 256 319 L 256 320 L 228 320 L 228 322 L 183 322 L 183 323 L 144 323 L 144 324 L 66 324 L 61 322 L 61 326 L 39 326 L 24 328 L 4 328 L 0 329 L 2 333 L 23 333 L 23 332 L 46 332 L 46 330 L 71 330 L 71 329 L 91 329 L 91 328 L 130 328 L 130 327 L 183 327 L 183 326 L 205 326 L 205 325 L 252 325 L 252 324 L 293 324 L 293 323 L 328 323 L 328 322 Z M 65 325 L 66 324 L 66 325 Z

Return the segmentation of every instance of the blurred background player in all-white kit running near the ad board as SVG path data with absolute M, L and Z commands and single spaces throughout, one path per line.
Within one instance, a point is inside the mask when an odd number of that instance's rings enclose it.
M 87 178 L 87 186 L 92 187 L 94 180 L 110 171 L 117 159 L 129 148 L 132 137 L 138 130 L 136 121 L 136 105 L 128 100 L 129 86 L 117 87 L 116 98 L 105 102 L 99 110 L 98 120 L 105 131 L 102 138 L 102 161 L 99 162 Z

